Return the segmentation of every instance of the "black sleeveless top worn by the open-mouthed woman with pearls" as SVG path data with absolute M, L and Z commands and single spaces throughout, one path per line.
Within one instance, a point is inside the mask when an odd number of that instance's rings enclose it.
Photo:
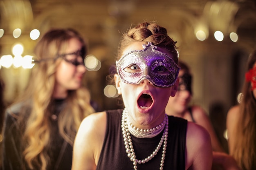
M 122 109 L 108 110 L 106 135 L 96 170 L 133 170 L 133 162 L 127 157 L 121 130 Z M 164 170 L 185 170 L 186 128 L 187 121 L 168 116 L 169 129 Z M 148 157 L 157 147 L 161 137 L 137 138 L 131 135 L 137 159 Z M 150 161 L 138 164 L 138 170 L 159 170 L 162 148 Z

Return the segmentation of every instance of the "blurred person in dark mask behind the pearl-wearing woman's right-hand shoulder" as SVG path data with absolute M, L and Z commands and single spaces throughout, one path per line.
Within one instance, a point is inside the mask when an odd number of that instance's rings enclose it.
M 222 149 L 211 120 L 204 109 L 200 106 L 189 105 L 192 98 L 192 75 L 185 62 L 179 60 L 179 66 L 179 86 L 175 96 L 170 96 L 168 100 L 166 114 L 194 122 L 209 132 L 213 150 L 212 170 L 240 170 L 234 158 Z

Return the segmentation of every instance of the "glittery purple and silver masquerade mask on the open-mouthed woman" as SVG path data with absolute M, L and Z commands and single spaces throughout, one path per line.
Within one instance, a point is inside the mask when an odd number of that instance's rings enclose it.
M 116 61 L 117 73 L 128 84 L 139 84 L 148 79 L 155 86 L 171 87 L 175 84 L 180 67 L 157 46 L 143 44 L 143 50 L 134 50 Z

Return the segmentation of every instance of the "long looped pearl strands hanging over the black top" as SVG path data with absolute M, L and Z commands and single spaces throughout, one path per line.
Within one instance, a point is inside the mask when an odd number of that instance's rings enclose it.
M 146 157 L 145 159 L 142 159 L 142 160 L 136 159 L 136 155 L 135 155 L 134 148 L 132 145 L 132 139 L 130 136 L 130 130 L 128 128 L 128 119 L 127 118 L 128 118 L 128 112 L 125 108 L 123 111 L 123 114 L 122 114 L 121 128 L 122 128 L 122 133 L 123 133 L 123 137 L 124 137 L 124 145 L 126 148 L 126 153 L 127 153 L 128 158 L 130 158 L 130 161 L 133 162 L 133 169 L 137 170 L 137 163 L 139 163 L 139 164 L 146 163 L 149 160 L 151 160 L 153 157 L 155 157 L 155 155 L 157 155 L 157 152 L 161 148 L 162 144 L 164 143 L 162 157 L 161 157 L 161 163 L 160 163 L 160 168 L 159 168 L 159 170 L 163 170 L 166 147 L 167 147 L 167 137 L 168 137 L 168 117 L 167 117 L 167 115 L 165 115 L 164 121 L 161 123 L 161 127 L 162 127 L 162 124 L 165 124 L 165 126 L 163 126 L 164 133 L 159 141 L 159 144 L 157 145 L 157 148 L 155 148 L 155 150 L 152 152 L 152 154 L 150 154 L 148 157 Z M 132 129 L 135 129 L 135 128 L 132 128 Z M 144 133 L 144 130 L 139 130 L 139 132 Z

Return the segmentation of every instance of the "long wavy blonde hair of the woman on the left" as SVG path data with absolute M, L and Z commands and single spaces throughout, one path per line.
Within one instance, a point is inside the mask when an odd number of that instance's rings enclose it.
M 40 168 L 45 170 L 50 158 L 47 147 L 50 145 L 50 110 L 53 104 L 53 92 L 56 82 L 55 72 L 61 59 L 56 55 L 64 53 L 68 41 L 77 38 L 83 44 L 83 52 L 86 53 L 85 42 L 72 29 L 53 29 L 48 31 L 35 47 L 34 53 L 38 62 L 31 71 L 31 78 L 27 91 L 22 100 L 31 101 L 31 113 L 26 120 L 24 132 L 23 157 L 30 169 Z M 84 56 L 83 56 L 84 57 Z M 52 58 L 53 60 L 48 60 Z M 58 116 L 58 127 L 61 136 L 71 146 L 76 132 L 84 117 L 94 112 L 90 105 L 90 93 L 86 88 L 68 91 L 65 108 Z M 27 113 L 23 113 L 26 115 Z M 20 121 L 22 124 L 24 121 Z

